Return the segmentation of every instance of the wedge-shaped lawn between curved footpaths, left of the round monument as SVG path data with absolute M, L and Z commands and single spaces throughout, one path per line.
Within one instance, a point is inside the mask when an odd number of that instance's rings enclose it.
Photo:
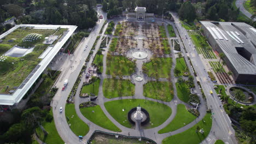
M 118 132 L 121 131 L 117 126 L 114 125 L 114 123 L 108 119 L 99 105 L 93 107 L 83 107 L 80 109 L 80 111 L 84 117 L 102 128 Z

